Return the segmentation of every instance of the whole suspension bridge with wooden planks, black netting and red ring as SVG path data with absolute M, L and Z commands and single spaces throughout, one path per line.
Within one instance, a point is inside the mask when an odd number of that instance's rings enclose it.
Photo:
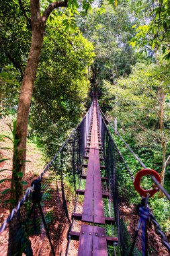
M 0 227 L 0 255 L 169 255 L 167 237 L 148 206 L 158 189 L 168 199 L 169 194 L 159 174 L 146 169 L 126 144 L 144 168 L 134 179 L 106 123 L 93 98 L 81 123 Z M 145 191 L 140 179 L 147 174 L 156 185 Z M 133 197 L 141 201 L 137 213 Z

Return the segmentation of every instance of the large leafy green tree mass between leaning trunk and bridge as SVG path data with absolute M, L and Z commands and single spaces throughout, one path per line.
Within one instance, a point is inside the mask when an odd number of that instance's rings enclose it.
M 48 157 L 54 155 L 85 111 L 87 66 L 94 56 L 92 44 L 79 30 L 65 32 L 63 20 L 65 15 L 46 28 L 30 115 L 30 135 L 40 137 Z

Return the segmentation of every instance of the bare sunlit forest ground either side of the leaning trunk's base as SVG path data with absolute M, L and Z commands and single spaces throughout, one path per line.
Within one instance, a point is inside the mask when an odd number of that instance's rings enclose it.
M 7 135 L 9 137 L 12 137 L 11 131 L 9 129 L 9 126 L 7 124 L 12 125 L 12 118 L 11 117 L 3 117 L 0 119 L 0 134 L 1 135 Z M 11 148 L 9 150 L 3 150 L 1 148 Z M 2 179 L 11 179 L 11 168 L 12 168 L 12 156 L 13 156 L 13 143 L 10 139 L 4 138 L 3 141 L 0 140 L 0 159 L 7 158 L 8 160 L 5 160 L 5 162 L 0 163 L 0 181 Z M 28 183 L 28 185 L 25 185 L 26 189 L 27 187 L 30 187 L 30 184 L 34 179 L 36 179 L 40 173 L 42 172 L 44 168 L 44 162 L 42 160 L 42 153 L 38 149 L 35 143 L 32 143 L 28 139 L 27 143 L 27 158 L 29 162 L 26 162 L 26 176 L 24 181 Z M 3 170 L 2 169 L 9 169 L 9 170 Z M 2 222 L 7 218 L 9 214 L 9 209 L 7 201 L 10 197 L 10 191 L 5 193 L 5 195 L 2 194 L 2 192 L 5 189 L 10 188 L 11 181 L 4 181 L 3 183 L 0 183 L 0 225 Z

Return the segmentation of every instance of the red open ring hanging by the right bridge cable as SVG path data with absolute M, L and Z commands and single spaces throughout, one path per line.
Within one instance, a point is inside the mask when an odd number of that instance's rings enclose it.
M 159 173 L 156 170 L 142 169 L 139 172 L 137 172 L 136 177 L 134 179 L 134 188 L 143 197 L 146 197 L 147 193 L 149 193 L 150 197 L 152 197 L 159 190 L 158 187 L 155 187 L 153 189 L 148 189 L 148 190 L 142 189 L 142 187 L 140 187 L 140 180 L 142 179 L 142 177 L 145 176 L 145 175 L 149 175 L 149 174 L 153 175 L 157 179 L 157 181 L 159 183 L 161 183 L 161 177 L 160 177 Z

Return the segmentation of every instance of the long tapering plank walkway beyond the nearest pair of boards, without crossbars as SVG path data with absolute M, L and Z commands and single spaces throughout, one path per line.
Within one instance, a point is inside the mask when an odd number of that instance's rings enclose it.
M 105 224 L 99 161 L 97 111 L 96 102 L 94 102 L 82 221 Z

